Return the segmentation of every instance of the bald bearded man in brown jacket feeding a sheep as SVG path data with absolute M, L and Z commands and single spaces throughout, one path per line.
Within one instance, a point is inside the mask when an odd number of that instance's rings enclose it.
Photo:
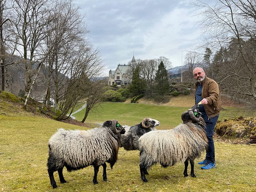
M 205 131 L 209 145 L 205 159 L 198 164 L 202 165 L 201 169 L 216 168 L 213 132 L 221 109 L 219 86 L 214 80 L 205 76 L 205 71 L 200 67 L 195 68 L 193 74 L 197 81 L 195 104 L 201 102 L 199 111 L 206 122 Z

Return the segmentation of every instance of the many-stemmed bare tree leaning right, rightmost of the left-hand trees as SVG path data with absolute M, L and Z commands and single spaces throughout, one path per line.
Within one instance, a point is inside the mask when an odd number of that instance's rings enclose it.
M 60 115 L 58 120 L 66 119 L 66 114 L 71 110 L 72 113 L 75 105 L 85 98 L 91 92 L 91 81 L 98 78 L 102 74 L 104 61 L 101 59 L 100 52 L 93 49 L 80 46 L 77 56 L 69 66 L 67 73 L 67 85 L 60 97 L 59 109 Z

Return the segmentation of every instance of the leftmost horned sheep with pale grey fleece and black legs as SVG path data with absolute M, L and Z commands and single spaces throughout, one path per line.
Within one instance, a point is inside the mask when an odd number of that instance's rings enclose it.
M 53 173 L 58 171 L 61 183 L 66 183 L 63 177 L 63 167 L 68 171 L 82 169 L 93 165 L 93 184 L 97 184 L 99 167 L 103 166 L 103 180 L 107 181 L 106 162 L 111 169 L 117 161 L 120 136 L 125 129 L 116 120 L 106 121 L 106 127 L 94 128 L 88 131 L 59 129 L 49 140 L 48 174 L 51 185 L 56 188 Z

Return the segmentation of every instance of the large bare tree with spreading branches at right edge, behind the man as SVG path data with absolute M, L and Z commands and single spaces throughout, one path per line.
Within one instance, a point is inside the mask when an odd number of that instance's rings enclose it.
M 223 93 L 256 100 L 256 1 L 217 0 L 194 1 L 202 21 L 199 23 L 207 45 L 219 49 L 224 63 L 215 62 L 215 79 Z M 223 49 L 225 48 L 225 49 Z M 233 56 L 233 58 L 231 58 Z M 225 67 L 223 67 L 225 66 Z

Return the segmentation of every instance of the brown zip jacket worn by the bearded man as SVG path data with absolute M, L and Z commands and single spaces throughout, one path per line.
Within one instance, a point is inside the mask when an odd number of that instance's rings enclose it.
M 199 82 L 196 82 L 196 89 Z M 202 85 L 202 99 L 206 98 L 208 104 L 203 105 L 208 118 L 213 118 L 220 114 L 221 99 L 219 85 L 212 79 L 205 76 L 205 79 L 201 82 Z M 195 101 L 196 104 L 196 101 Z

